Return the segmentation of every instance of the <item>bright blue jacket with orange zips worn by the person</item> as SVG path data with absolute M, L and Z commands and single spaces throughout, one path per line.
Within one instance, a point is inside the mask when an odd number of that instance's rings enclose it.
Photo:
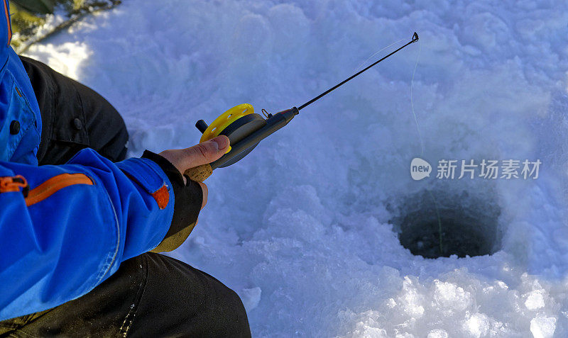
M 38 103 L 9 45 L 8 0 L 0 1 L 0 320 L 6 320 L 80 297 L 121 261 L 156 247 L 170 227 L 174 195 L 150 159 L 113 164 L 85 149 L 65 165 L 38 167 Z M 20 124 L 15 135 L 13 121 Z

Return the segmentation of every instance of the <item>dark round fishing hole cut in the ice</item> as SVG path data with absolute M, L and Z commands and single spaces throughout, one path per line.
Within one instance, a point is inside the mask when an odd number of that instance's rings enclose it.
M 494 198 L 466 191 L 421 191 L 402 198 L 398 209 L 391 222 L 400 244 L 414 255 L 474 257 L 501 249 L 501 208 Z

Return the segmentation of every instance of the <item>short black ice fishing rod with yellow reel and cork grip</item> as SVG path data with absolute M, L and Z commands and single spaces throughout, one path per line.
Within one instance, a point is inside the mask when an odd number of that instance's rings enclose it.
M 293 107 L 274 114 L 266 113 L 263 109 L 262 112 L 264 116 L 266 116 L 266 120 L 259 114 L 254 113 L 254 108 L 249 103 L 243 103 L 222 113 L 222 115 L 216 118 L 210 125 L 207 125 L 204 120 L 197 121 L 197 123 L 195 123 L 195 127 L 197 127 L 197 129 L 203 134 L 200 142 L 211 140 L 213 137 L 217 137 L 219 135 L 225 135 L 226 137 L 229 137 L 231 146 L 220 159 L 217 159 L 217 161 L 187 169 L 185 174 L 193 181 L 202 182 L 212 174 L 214 169 L 228 167 L 231 164 L 239 162 L 239 160 L 249 154 L 249 152 L 251 152 L 254 147 L 261 142 L 261 140 L 264 140 L 268 137 L 268 135 L 271 135 L 276 130 L 287 125 L 303 108 L 310 106 L 310 104 L 319 100 L 323 96 L 326 96 L 340 86 L 343 86 L 346 82 L 354 79 L 354 77 L 366 72 L 366 70 L 395 54 L 395 52 L 402 50 L 404 47 L 411 43 L 415 43 L 416 41 L 418 41 L 418 34 L 415 32 L 412 40 L 402 47 L 399 47 L 394 52 L 381 57 L 380 60 L 373 62 L 373 64 L 369 65 L 365 69 L 356 72 L 351 75 L 351 77 L 348 77 L 347 79 L 344 79 L 344 81 L 339 82 L 339 84 L 332 86 L 332 88 L 327 89 L 327 91 L 324 91 L 322 94 L 312 98 L 300 107 Z

